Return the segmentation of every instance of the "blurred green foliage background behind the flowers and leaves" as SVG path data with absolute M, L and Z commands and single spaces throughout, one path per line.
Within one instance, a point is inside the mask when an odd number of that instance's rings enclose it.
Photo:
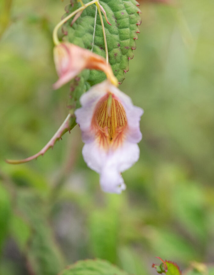
M 214 262 L 214 2 L 141 2 L 135 57 L 120 89 L 144 109 L 139 161 L 109 195 L 87 168 L 78 126 L 37 161 L 68 114 L 52 30 L 69 1 L 0 3 L 0 274 L 54 275 L 103 258 L 135 275 L 154 257 Z M 9 15 L 10 13 L 10 15 Z M 1 27 L 2 27 L 1 26 Z

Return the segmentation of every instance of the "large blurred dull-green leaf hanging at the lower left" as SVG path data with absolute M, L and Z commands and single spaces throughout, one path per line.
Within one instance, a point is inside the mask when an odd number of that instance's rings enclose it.
M 32 270 L 38 275 L 56 275 L 64 262 L 48 224 L 44 202 L 31 192 L 22 190 L 17 194 L 17 208 L 31 227 L 27 258 Z

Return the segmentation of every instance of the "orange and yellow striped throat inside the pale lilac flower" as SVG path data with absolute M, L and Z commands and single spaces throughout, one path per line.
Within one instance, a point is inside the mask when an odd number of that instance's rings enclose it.
M 104 147 L 119 146 L 123 141 L 127 117 L 123 105 L 110 93 L 97 103 L 93 116 L 98 143 Z

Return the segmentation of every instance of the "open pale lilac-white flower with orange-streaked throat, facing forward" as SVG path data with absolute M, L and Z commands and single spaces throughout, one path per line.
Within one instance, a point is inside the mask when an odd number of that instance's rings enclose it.
M 83 94 L 80 103 L 75 115 L 85 143 L 83 158 L 100 174 L 103 191 L 121 193 L 126 188 L 121 172 L 139 158 L 143 110 L 108 80 Z

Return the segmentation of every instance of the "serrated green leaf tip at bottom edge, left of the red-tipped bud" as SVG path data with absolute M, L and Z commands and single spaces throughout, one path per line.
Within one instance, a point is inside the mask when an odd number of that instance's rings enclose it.
M 59 275 L 128 275 L 128 273 L 107 261 L 96 259 L 79 261 L 72 266 L 68 266 Z

